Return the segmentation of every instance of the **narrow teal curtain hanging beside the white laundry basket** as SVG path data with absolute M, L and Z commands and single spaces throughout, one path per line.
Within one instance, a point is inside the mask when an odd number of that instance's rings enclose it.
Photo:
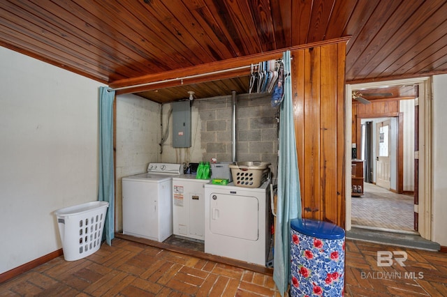
M 115 237 L 115 178 L 113 167 L 113 100 L 115 91 L 99 88 L 99 186 L 98 200 L 108 201 L 103 238 L 112 245 Z

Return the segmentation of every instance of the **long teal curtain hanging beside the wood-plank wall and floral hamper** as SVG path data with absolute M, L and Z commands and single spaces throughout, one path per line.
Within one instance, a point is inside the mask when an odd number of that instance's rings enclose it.
M 291 220 L 301 218 L 300 178 L 293 125 L 291 53 L 284 52 L 284 100 L 279 119 L 277 218 L 274 238 L 273 280 L 281 296 L 291 275 Z

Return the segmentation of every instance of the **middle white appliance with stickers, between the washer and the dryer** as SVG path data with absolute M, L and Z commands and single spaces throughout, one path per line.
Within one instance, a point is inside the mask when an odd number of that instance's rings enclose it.
M 178 236 L 205 239 L 205 183 L 195 174 L 173 177 L 173 233 Z

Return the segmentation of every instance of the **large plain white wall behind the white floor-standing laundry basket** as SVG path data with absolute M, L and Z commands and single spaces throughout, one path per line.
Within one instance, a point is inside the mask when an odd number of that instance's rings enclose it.
M 54 211 L 97 200 L 101 85 L 0 47 L 0 273 L 59 250 Z

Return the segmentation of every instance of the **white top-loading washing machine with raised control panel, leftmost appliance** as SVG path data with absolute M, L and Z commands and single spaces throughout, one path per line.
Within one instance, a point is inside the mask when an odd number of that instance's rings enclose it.
M 173 176 L 181 164 L 149 163 L 147 173 L 122 178 L 123 233 L 165 241 L 173 235 Z

